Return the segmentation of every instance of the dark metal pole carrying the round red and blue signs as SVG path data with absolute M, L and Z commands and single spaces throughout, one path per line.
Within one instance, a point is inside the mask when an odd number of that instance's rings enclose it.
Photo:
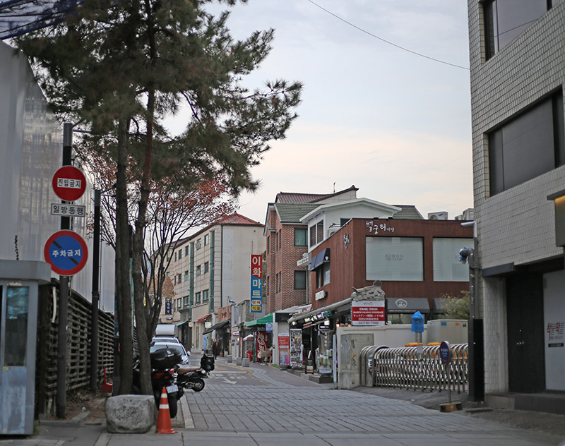
M 63 165 L 70 166 L 73 151 L 73 124 L 63 125 Z M 71 218 L 61 217 L 61 229 L 71 229 Z M 59 327 L 57 332 L 57 418 L 66 416 L 67 330 L 69 325 L 69 276 L 59 276 Z

